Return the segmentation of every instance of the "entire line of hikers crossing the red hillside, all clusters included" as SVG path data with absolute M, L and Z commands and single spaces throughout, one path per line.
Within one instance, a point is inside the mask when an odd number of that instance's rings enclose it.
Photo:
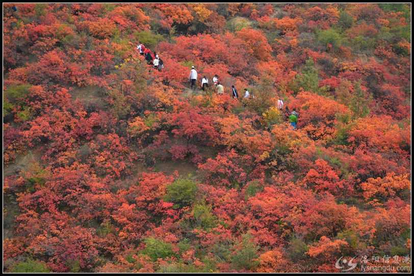
M 139 42 L 137 45 L 137 50 L 139 51 L 141 56 L 144 56 L 148 65 L 152 65 L 154 69 L 157 69 L 159 71 L 161 71 L 164 68 L 164 62 L 158 56 L 156 52 L 152 52 L 150 49 L 145 47 L 144 44 L 139 43 Z M 191 71 L 190 71 L 190 75 L 188 79 L 189 79 L 190 86 L 193 89 L 193 91 L 195 91 L 196 89 L 197 76 L 198 74 L 195 69 L 195 66 L 191 66 Z M 213 77 L 213 85 L 215 86 L 215 90 L 218 95 L 224 94 L 224 87 L 220 83 L 219 76 L 217 74 L 215 74 Z M 209 79 L 204 75 L 203 78 L 201 79 L 200 89 L 202 91 L 205 91 L 206 87 L 209 87 Z M 237 89 L 234 85 L 231 86 L 231 97 L 234 99 L 239 98 L 239 93 L 237 92 Z M 254 95 L 253 93 L 249 92 L 247 88 L 245 88 L 243 98 L 246 98 L 246 99 L 254 98 Z M 279 98 L 277 100 L 277 108 L 279 109 L 280 113 L 283 113 L 283 106 L 284 106 L 283 100 Z M 293 129 L 296 129 L 296 124 L 298 122 L 299 114 L 296 112 L 295 108 L 293 108 L 293 111 L 290 112 L 288 106 L 286 106 L 284 109 L 284 118 L 285 120 L 290 122 Z

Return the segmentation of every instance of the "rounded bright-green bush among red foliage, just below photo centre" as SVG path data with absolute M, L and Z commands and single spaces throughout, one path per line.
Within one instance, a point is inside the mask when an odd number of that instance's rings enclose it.
M 167 187 L 164 201 L 173 202 L 174 208 L 191 205 L 196 196 L 197 184 L 191 179 L 179 178 Z

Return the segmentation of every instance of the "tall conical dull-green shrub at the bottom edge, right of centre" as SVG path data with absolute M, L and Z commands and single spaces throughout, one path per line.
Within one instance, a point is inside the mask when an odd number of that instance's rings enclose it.
M 253 269 L 259 262 L 256 260 L 259 247 L 251 240 L 250 235 L 244 235 L 242 241 L 235 246 L 235 254 L 230 257 L 235 269 Z

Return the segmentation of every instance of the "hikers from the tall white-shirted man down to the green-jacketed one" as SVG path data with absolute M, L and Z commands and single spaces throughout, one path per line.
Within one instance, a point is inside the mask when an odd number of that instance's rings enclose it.
M 188 79 L 190 81 L 191 88 L 193 89 L 193 91 L 195 91 L 196 82 L 197 82 L 197 71 L 195 70 L 195 66 L 191 67 L 191 71 L 190 71 L 190 75 Z M 220 84 L 219 76 L 217 74 L 215 74 L 213 77 L 213 85 L 216 86 L 216 92 L 218 95 L 224 94 L 224 87 L 223 85 Z M 203 76 L 203 78 L 201 79 L 200 89 L 202 91 L 205 91 L 206 87 L 209 87 L 209 79 L 206 76 Z M 237 89 L 234 85 L 231 86 L 231 97 L 234 99 L 239 98 L 239 93 L 237 92 Z M 250 93 L 247 90 L 247 88 L 245 88 L 243 98 L 254 98 L 254 95 Z M 280 113 L 283 113 L 283 106 L 284 106 L 283 100 L 279 98 L 277 100 L 277 108 L 279 109 Z M 288 106 L 286 106 L 284 109 L 284 118 L 286 121 L 290 122 L 293 129 L 296 129 L 296 124 L 298 122 L 299 114 L 296 112 L 295 108 L 293 108 L 292 112 L 290 112 Z

